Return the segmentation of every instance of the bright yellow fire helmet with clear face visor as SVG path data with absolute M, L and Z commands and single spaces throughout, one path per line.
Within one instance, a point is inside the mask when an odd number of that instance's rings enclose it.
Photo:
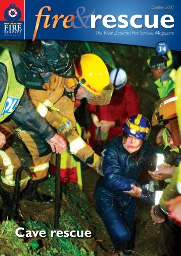
M 74 58 L 76 77 L 66 83 L 71 88 L 78 83 L 84 89 L 87 102 L 92 105 L 107 105 L 111 101 L 114 86 L 104 61 L 96 54 L 84 54 Z

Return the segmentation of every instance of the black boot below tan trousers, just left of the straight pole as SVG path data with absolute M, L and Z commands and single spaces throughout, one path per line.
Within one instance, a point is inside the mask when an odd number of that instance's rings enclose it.
M 53 203 L 54 197 L 37 191 L 38 182 L 30 181 L 23 191 L 23 199 L 38 203 Z

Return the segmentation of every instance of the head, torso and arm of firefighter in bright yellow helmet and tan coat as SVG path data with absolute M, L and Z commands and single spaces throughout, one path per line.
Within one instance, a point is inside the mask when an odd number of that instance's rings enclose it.
M 50 82 L 43 85 L 46 90 L 38 91 L 38 94 L 36 90 L 29 90 L 29 95 L 37 112 L 65 136 L 69 151 L 100 172 L 102 158 L 75 133 L 74 101 L 76 97 L 85 97 L 91 104 L 108 104 L 113 86 L 107 67 L 99 56 L 84 54 L 74 58 L 73 63 L 75 77 L 64 79 L 52 73 Z M 22 133 L 21 137 L 26 137 L 26 134 Z

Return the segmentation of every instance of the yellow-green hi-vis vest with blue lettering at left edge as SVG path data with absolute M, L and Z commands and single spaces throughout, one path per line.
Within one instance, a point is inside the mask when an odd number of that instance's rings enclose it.
M 7 69 L 7 84 L 0 102 L 0 122 L 6 119 L 18 106 L 24 92 L 24 86 L 16 80 L 13 64 L 8 50 L 0 56 L 0 63 Z

